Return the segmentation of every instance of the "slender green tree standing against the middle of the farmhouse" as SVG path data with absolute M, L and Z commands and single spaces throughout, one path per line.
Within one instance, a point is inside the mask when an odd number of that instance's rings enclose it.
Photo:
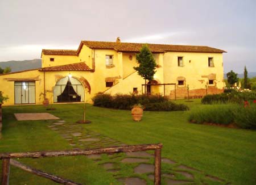
M 156 73 L 156 62 L 147 44 L 143 44 L 141 51 L 136 54 L 136 60 L 139 64 L 138 67 L 134 67 L 138 74 L 145 80 L 145 93 L 146 93 L 146 80 L 151 81 L 154 79 Z

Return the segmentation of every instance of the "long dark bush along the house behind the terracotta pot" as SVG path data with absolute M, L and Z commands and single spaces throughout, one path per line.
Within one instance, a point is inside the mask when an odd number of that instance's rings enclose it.
M 167 97 L 160 95 L 123 95 L 98 93 L 93 98 L 93 105 L 98 107 L 131 110 L 134 104 L 142 104 L 147 111 L 185 111 L 188 107 L 184 104 L 170 102 Z

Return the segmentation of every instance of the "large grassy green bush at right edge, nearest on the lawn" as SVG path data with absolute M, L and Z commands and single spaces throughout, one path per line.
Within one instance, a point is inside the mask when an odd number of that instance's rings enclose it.
M 200 124 L 236 124 L 240 128 L 256 129 L 256 103 L 251 103 L 246 107 L 238 104 L 226 104 L 194 110 L 189 115 L 189 121 Z

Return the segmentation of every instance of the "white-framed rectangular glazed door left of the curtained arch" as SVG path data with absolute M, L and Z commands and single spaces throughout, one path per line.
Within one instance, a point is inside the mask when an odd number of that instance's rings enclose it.
M 35 82 L 14 82 L 14 103 L 35 103 Z

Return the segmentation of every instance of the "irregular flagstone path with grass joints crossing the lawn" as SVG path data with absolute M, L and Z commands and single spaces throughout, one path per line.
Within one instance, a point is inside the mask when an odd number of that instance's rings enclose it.
M 59 133 L 73 149 L 93 149 L 125 145 L 90 131 L 80 124 L 51 120 L 48 127 Z M 112 173 L 121 184 L 154 184 L 154 155 L 147 152 L 97 154 L 86 156 Z M 129 175 L 126 171 L 129 171 Z M 162 158 L 162 184 L 230 184 L 200 170 Z

